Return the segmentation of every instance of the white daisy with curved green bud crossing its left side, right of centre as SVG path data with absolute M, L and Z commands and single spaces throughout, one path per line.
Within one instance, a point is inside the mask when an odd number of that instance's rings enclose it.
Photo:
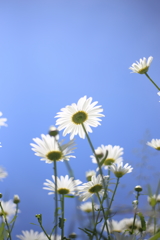
M 96 156 L 98 157 L 99 161 L 103 161 L 103 167 L 105 169 L 108 166 L 112 165 L 113 163 L 119 163 L 123 161 L 121 155 L 123 155 L 123 148 L 120 146 L 112 146 L 112 145 L 101 145 L 95 150 Z M 95 156 L 91 155 L 93 163 L 97 163 Z M 98 168 L 99 169 L 99 168 Z

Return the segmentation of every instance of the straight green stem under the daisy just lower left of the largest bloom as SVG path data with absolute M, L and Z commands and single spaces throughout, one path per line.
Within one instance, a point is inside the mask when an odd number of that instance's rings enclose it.
M 57 194 L 57 165 L 56 165 L 56 161 L 54 161 L 54 176 L 55 176 L 55 234 L 54 234 L 54 239 L 56 240 L 56 236 L 57 236 L 57 224 L 58 224 L 58 215 L 57 215 L 57 211 L 58 211 L 58 194 Z

